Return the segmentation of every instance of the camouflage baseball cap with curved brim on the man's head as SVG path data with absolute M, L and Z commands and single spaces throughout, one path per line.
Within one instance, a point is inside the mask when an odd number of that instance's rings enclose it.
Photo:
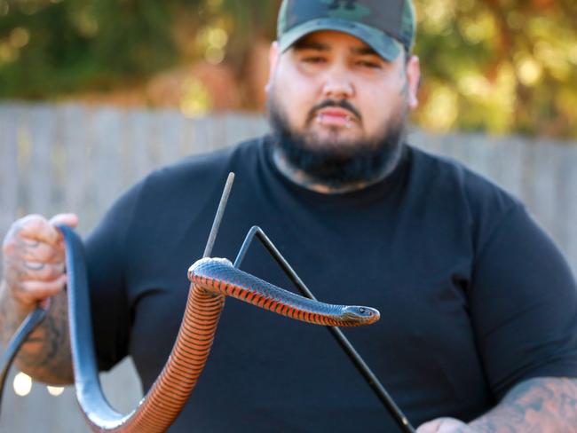
M 415 43 L 411 0 L 283 0 L 278 42 L 286 51 L 304 35 L 336 30 L 358 37 L 383 59 L 392 61 Z

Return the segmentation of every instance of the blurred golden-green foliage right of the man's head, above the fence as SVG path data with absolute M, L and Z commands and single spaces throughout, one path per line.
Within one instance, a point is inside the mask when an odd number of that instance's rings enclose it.
M 577 4 L 519 3 L 416 2 L 424 73 L 417 122 L 577 137 Z

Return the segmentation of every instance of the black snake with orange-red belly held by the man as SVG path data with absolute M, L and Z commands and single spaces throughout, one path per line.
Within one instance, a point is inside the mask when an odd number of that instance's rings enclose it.
M 243 272 L 225 258 L 203 257 L 188 269 L 190 288 L 185 314 L 161 374 L 134 410 L 117 413 L 99 383 L 83 243 L 70 227 L 61 225 L 59 230 L 66 245 L 68 325 L 76 398 L 89 428 L 95 432 L 159 433 L 170 427 L 209 358 L 226 296 L 314 325 L 358 327 L 375 323 L 380 317 L 374 308 L 307 299 Z M 36 311 L 36 325 L 42 317 Z M 28 324 L 28 333 L 32 326 Z M 19 338 L 21 344 L 24 339 L 21 335 Z M 13 358 L 17 350 L 9 344 L 4 358 Z M 9 366 L 10 363 L 2 366 L 1 374 L 5 376 Z

